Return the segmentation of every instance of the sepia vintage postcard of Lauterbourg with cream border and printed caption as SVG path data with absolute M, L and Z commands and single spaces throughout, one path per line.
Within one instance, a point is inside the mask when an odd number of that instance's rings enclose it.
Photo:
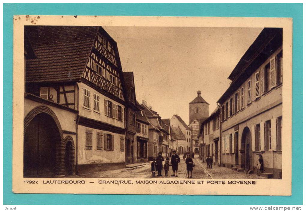
M 13 24 L 14 193 L 291 195 L 292 19 Z

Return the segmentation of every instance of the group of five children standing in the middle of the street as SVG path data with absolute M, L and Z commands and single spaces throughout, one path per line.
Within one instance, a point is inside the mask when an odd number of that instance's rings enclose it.
M 162 167 L 165 171 L 165 177 L 168 177 L 168 171 L 169 171 L 169 166 L 172 166 L 172 170 L 173 170 L 173 175 L 171 176 L 175 176 L 177 177 L 177 167 L 178 167 L 178 163 L 180 163 L 180 158 L 179 156 L 176 154 L 176 151 L 173 151 L 173 154 L 171 156 L 171 163 L 169 157 L 166 158 L 166 162 L 164 164 L 164 166 L 162 166 L 162 161 L 164 161 L 164 158 L 162 157 L 162 153 L 159 152 L 158 153 L 158 157 L 156 157 L 156 159 L 153 159 L 153 162 L 151 163 L 151 171 L 152 171 L 152 177 L 155 177 L 155 171 L 158 171 L 158 177 L 162 176 Z M 188 172 L 188 178 L 192 178 L 192 169 L 195 166 L 192 158 L 190 157 L 190 154 L 187 154 L 187 158 L 186 158 L 186 167 L 187 167 L 187 172 Z M 191 176 L 189 177 L 189 173 L 191 174 Z

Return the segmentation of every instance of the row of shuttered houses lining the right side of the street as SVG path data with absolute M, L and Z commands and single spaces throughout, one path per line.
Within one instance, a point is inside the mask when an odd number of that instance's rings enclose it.
M 200 122 L 200 156 L 234 170 L 282 178 L 282 29 L 264 28 L 228 77 L 229 88 Z

